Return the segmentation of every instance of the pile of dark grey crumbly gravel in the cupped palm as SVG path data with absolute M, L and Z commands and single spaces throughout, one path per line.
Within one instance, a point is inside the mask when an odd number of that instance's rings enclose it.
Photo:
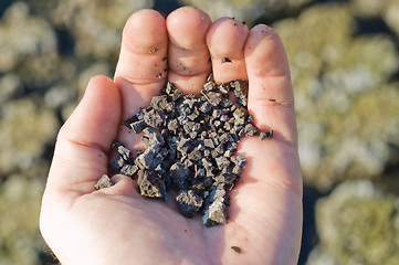
M 208 78 L 201 96 L 186 95 L 167 83 L 160 96 L 141 108 L 124 125 L 143 134 L 145 150 L 133 153 L 115 141 L 117 155 L 109 165 L 114 173 L 134 179 L 140 194 L 167 200 L 168 190 L 177 190 L 180 213 L 192 218 L 203 214 L 206 226 L 228 222 L 228 190 L 246 165 L 234 155 L 241 137 L 272 138 L 273 131 L 260 131 L 249 115 L 248 82 L 217 84 Z M 233 94 L 238 103 L 229 99 Z M 235 250 L 234 250 L 235 251 Z

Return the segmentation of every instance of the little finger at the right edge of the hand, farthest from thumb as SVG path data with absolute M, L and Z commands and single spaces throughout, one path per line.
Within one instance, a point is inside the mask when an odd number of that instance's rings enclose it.
M 294 95 L 288 61 L 279 35 L 269 26 L 254 26 L 244 47 L 249 77 L 249 110 L 261 129 L 296 147 Z

